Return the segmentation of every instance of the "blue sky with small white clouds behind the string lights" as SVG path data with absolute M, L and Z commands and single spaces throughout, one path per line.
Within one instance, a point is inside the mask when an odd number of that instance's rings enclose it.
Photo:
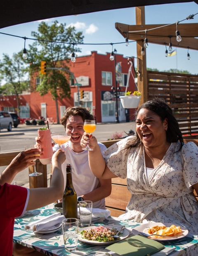
M 190 14 L 198 12 L 198 5 L 195 2 L 153 5 L 145 7 L 146 24 L 169 24 L 177 20 L 182 20 Z M 123 36 L 115 29 L 115 22 L 135 25 L 135 8 L 116 9 L 103 12 L 94 12 L 89 14 L 80 14 L 77 16 L 58 17 L 45 20 L 49 24 L 57 20 L 59 23 L 66 23 L 66 26 L 73 25 L 76 31 L 82 31 L 84 43 L 116 43 L 125 41 Z M 184 23 L 198 23 L 198 15 L 193 20 L 184 21 Z M 17 36 L 32 37 L 31 31 L 37 31 L 39 21 L 19 24 L 0 29 L 0 32 L 14 34 Z M 182 37 L 182 35 L 181 35 Z M 26 40 L 26 49 L 28 44 L 33 41 Z M 14 52 L 23 49 L 24 40 L 0 34 L 0 59 L 2 54 L 7 53 L 10 56 Z M 129 47 L 125 44 L 114 45 L 118 54 L 126 56 L 137 56 L 136 43 L 130 43 Z M 105 54 L 111 52 L 111 45 L 83 45 L 80 55 L 87 55 L 92 50 Z M 173 48 L 174 50 L 175 48 Z M 191 73 L 198 73 L 198 51 L 189 50 L 191 60 L 187 60 L 187 49 L 177 48 L 177 68 L 188 70 Z M 149 43 L 146 51 L 147 67 L 157 68 L 160 71 L 167 69 L 176 69 L 176 56 L 165 57 L 165 46 Z

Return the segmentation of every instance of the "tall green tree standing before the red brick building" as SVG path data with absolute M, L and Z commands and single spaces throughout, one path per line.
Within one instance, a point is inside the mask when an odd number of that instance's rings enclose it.
M 67 63 L 73 52 L 73 44 L 74 52 L 80 52 L 80 48 L 75 43 L 82 43 L 84 38 L 82 32 L 76 33 L 74 27 L 66 28 L 66 24 L 59 24 L 58 21 L 54 21 L 51 26 L 42 21 L 38 26 L 38 32 L 32 32 L 32 36 L 41 41 L 35 41 L 33 45 L 29 45 L 28 62 L 31 64 L 31 75 L 40 71 L 41 61 L 46 61 L 47 68 L 69 69 Z M 63 43 L 54 43 L 54 41 Z M 55 100 L 57 123 L 59 123 L 58 98 L 70 97 L 71 93 L 66 71 L 47 69 L 46 75 L 40 74 L 40 85 L 37 86 L 36 91 L 40 95 L 51 93 L 52 99 Z

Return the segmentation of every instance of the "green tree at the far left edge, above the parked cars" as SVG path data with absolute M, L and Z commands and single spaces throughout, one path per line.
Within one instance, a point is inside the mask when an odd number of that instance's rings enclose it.
M 19 94 L 28 89 L 28 81 L 25 79 L 27 72 L 21 52 L 14 53 L 12 58 L 7 54 L 3 54 L 3 59 L 0 61 L 0 74 L 6 84 L 1 86 L 1 93 L 4 95 L 9 95 L 10 93 L 16 95 L 18 113 Z

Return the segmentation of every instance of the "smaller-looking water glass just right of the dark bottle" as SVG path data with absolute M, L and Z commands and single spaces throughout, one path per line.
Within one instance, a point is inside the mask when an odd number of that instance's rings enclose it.
M 80 224 L 82 227 L 89 227 L 92 223 L 92 201 L 80 201 Z

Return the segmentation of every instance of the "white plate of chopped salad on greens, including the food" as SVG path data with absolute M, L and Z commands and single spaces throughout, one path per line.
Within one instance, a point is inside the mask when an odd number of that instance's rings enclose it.
M 130 232 L 125 228 L 119 233 L 119 238 L 114 238 L 122 226 L 91 226 L 81 228 L 78 233 L 78 241 L 87 244 L 113 244 L 127 238 Z

